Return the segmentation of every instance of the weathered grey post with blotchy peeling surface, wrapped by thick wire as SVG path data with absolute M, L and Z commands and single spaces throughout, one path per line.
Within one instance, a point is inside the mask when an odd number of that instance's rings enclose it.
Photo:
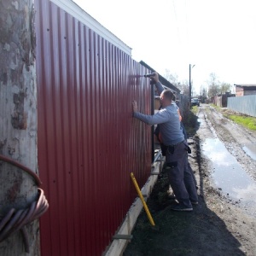
M 37 172 L 37 86 L 33 0 L 0 1 L 0 154 Z M 28 207 L 38 195 L 32 177 L 0 161 L 0 218 Z M 0 255 L 39 255 L 38 221 L 0 243 Z

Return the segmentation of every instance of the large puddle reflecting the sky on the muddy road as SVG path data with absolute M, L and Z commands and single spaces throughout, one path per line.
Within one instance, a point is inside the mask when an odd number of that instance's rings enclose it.
M 256 184 L 236 158 L 218 138 L 207 139 L 202 144 L 202 152 L 212 160 L 212 178 L 216 187 L 232 201 L 239 201 L 241 207 L 253 207 L 255 214 Z

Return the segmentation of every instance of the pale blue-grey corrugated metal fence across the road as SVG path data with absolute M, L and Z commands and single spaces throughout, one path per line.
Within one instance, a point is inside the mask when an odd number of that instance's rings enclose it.
M 256 117 L 256 95 L 229 97 L 227 108 Z

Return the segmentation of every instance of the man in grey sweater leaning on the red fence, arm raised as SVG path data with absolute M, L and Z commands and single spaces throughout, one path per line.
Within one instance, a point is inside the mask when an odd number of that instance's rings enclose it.
M 154 115 L 139 113 L 137 102 L 132 102 L 133 117 L 148 125 L 160 125 L 160 140 L 166 145 L 166 170 L 169 183 L 176 195 L 177 205 L 172 205 L 174 211 L 193 211 L 192 204 L 198 203 L 194 179 L 189 171 L 188 144 L 180 129 L 177 107 L 172 102 L 172 90 L 164 90 L 160 84 L 158 73 L 151 77 L 160 93 L 162 109 Z

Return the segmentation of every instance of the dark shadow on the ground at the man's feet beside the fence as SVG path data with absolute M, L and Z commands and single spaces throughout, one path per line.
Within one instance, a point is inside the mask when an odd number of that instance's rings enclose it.
M 149 223 L 143 210 L 124 256 L 245 255 L 224 222 L 207 208 L 203 196 L 193 212 L 173 212 L 173 200 L 166 193 L 168 187 L 164 172 L 147 201 L 155 226 Z

